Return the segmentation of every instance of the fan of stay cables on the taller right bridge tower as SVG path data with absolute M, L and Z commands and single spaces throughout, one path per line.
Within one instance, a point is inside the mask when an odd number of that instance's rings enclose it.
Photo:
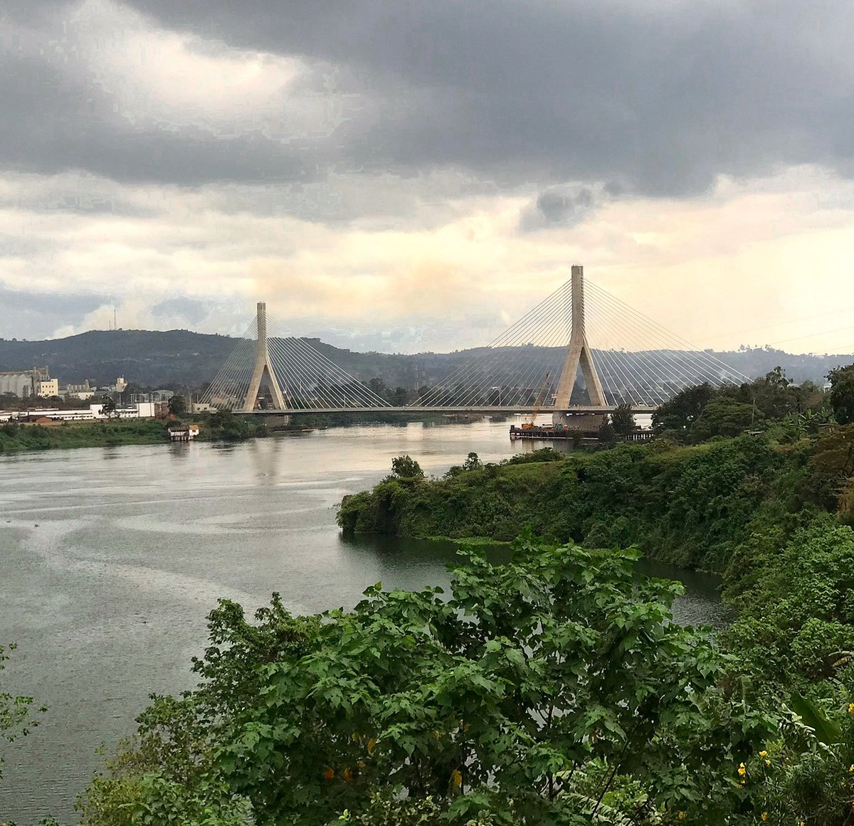
M 542 300 L 413 406 L 552 404 L 572 332 L 570 282 Z M 686 387 L 740 384 L 746 375 L 585 281 L 585 332 L 607 404 L 657 407 Z M 588 404 L 576 383 L 570 404 Z

